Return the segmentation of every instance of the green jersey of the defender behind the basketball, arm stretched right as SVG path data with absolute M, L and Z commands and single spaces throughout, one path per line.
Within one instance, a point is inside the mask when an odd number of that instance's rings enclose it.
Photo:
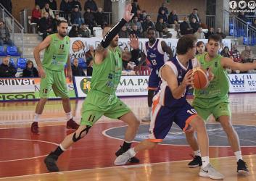
M 226 70 L 220 64 L 220 59 L 223 56 L 217 55 L 210 62 L 205 61 L 207 53 L 198 56 L 201 66 L 204 69 L 208 67 L 212 68 L 214 79 L 210 82 L 210 85 L 202 90 L 194 90 L 195 98 L 228 98 L 228 74 Z

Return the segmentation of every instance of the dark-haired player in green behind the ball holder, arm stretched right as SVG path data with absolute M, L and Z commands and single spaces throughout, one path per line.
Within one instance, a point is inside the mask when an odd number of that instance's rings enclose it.
M 244 72 L 256 69 L 256 62 L 240 64 L 230 58 L 220 56 L 218 54 L 220 43 L 221 38 L 219 35 L 210 35 L 207 43 L 207 52 L 197 57 L 204 69 L 211 69 L 214 78 L 210 81 L 210 85 L 208 85 L 207 88 L 194 91 L 195 97 L 193 106 L 205 121 L 207 121 L 210 114 L 212 114 L 215 120 L 220 122 L 236 156 L 237 172 L 240 174 L 249 174 L 247 164 L 243 161 L 241 156 L 239 137 L 231 123 L 231 110 L 228 101 L 229 85 L 226 67 L 230 67 L 231 70 Z M 201 166 L 202 160 L 194 132 L 186 133 L 186 140 L 195 154 L 194 160 L 189 163 L 189 167 Z

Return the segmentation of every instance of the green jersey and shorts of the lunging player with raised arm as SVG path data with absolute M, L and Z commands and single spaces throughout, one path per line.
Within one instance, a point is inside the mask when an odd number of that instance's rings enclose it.
M 120 48 L 107 50 L 107 57 L 101 64 L 94 63 L 91 77 L 91 90 L 83 102 L 80 125 L 92 126 L 102 117 L 118 119 L 131 111 L 115 95 L 115 90 L 122 75 L 122 54 Z

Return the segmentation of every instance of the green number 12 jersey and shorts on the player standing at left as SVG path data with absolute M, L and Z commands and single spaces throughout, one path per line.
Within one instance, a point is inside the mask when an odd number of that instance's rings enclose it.
M 68 98 L 64 68 L 70 52 L 70 38 L 65 36 L 61 40 L 57 34 L 50 36 L 51 43 L 44 52 L 44 60 L 42 62 L 46 77 L 41 78 L 40 97 L 48 98 L 52 88 L 56 96 Z

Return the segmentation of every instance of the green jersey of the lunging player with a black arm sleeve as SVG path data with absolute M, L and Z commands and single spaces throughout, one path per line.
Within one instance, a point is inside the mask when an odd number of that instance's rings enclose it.
M 122 53 L 118 47 L 115 48 L 115 51 L 110 49 L 107 51 L 107 57 L 102 64 L 94 64 L 91 90 L 114 96 L 122 75 Z

